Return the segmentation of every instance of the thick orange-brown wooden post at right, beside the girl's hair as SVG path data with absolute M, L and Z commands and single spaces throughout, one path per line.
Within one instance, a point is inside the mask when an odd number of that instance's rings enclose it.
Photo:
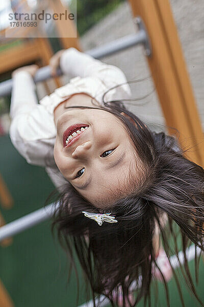
M 180 133 L 186 157 L 204 167 L 204 138 L 186 64 L 168 0 L 129 0 L 152 45 L 149 68 L 169 134 Z

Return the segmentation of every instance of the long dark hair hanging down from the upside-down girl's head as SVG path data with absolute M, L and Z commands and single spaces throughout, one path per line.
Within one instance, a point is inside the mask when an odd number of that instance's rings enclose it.
M 128 300 L 136 281 L 138 288 L 132 306 L 136 306 L 141 298 L 144 298 L 144 304 L 151 305 L 152 264 L 157 267 L 152 242 L 157 224 L 168 259 L 175 254 L 180 261 L 178 246 L 183 250 L 182 274 L 197 301 L 204 306 L 196 293 L 186 257 L 186 249 L 192 242 L 204 250 L 203 168 L 185 158 L 187 149 L 179 148 L 176 137 L 150 131 L 122 101 L 104 101 L 104 106 L 98 108 L 121 120 L 142 167 L 139 172 L 130 170 L 125 184 L 134 187 L 132 191 L 121 195 L 104 210 L 111 212 L 118 223 L 104 223 L 100 227 L 85 217 L 82 211 L 103 213 L 103 210 L 85 200 L 68 182 L 59 195 L 52 230 L 57 229 L 60 243 L 68 252 L 76 273 L 73 250 L 77 253 L 86 279 L 87 299 L 90 286 L 94 306 L 95 296 L 101 294 L 114 306 L 113 293 L 116 292 L 123 294 L 125 307 L 124 298 Z M 164 216 L 167 217 L 166 225 Z M 199 260 L 200 257 L 195 256 L 196 281 Z M 182 306 L 185 306 L 179 278 L 173 267 L 172 270 Z M 167 306 L 170 306 L 164 276 L 163 282 Z

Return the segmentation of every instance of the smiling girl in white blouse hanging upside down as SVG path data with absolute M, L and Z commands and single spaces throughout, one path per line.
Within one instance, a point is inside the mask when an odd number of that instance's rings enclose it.
M 190 240 L 203 250 L 203 169 L 183 156 L 174 137 L 150 131 L 126 109 L 131 91 L 120 69 L 74 48 L 52 58 L 53 75 L 58 65 L 72 78 L 39 104 L 36 65 L 14 71 L 10 137 L 58 188 L 53 227 L 61 244 L 74 268 L 77 252 L 94 306 L 95 294 L 113 306 L 136 306 L 142 297 L 150 304 L 152 277 L 164 282 L 170 306 L 172 272 L 184 306 L 169 257 L 178 253 L 174 224 L 184 253 Z M 203 306 L 187 260 L 182 272 Z M 134 297 L 135 280 L 141 282 Z

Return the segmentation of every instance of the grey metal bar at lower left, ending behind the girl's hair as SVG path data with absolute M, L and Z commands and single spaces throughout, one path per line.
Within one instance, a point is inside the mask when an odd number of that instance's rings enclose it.
M 26 229 L 32 228 L 33 226 L 48 220 L 53 216 L 54 210 L 55 208 L 58 208 L 58 206 L 58 203 L 56 206 L 54 206 L 54 204 L 50 204 L 0 227 L 0 242 L 3 239 L 18 234 Z

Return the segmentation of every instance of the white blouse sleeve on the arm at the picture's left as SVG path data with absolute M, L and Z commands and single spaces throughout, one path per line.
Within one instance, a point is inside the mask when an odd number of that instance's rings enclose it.
M 16 73 L 10 107 L 10 138 L 28 163 L 45 166 L 46 156 L 53 151 L 56 127 L 53 117 L 37 102 L 32 76 L 23 71 Z

